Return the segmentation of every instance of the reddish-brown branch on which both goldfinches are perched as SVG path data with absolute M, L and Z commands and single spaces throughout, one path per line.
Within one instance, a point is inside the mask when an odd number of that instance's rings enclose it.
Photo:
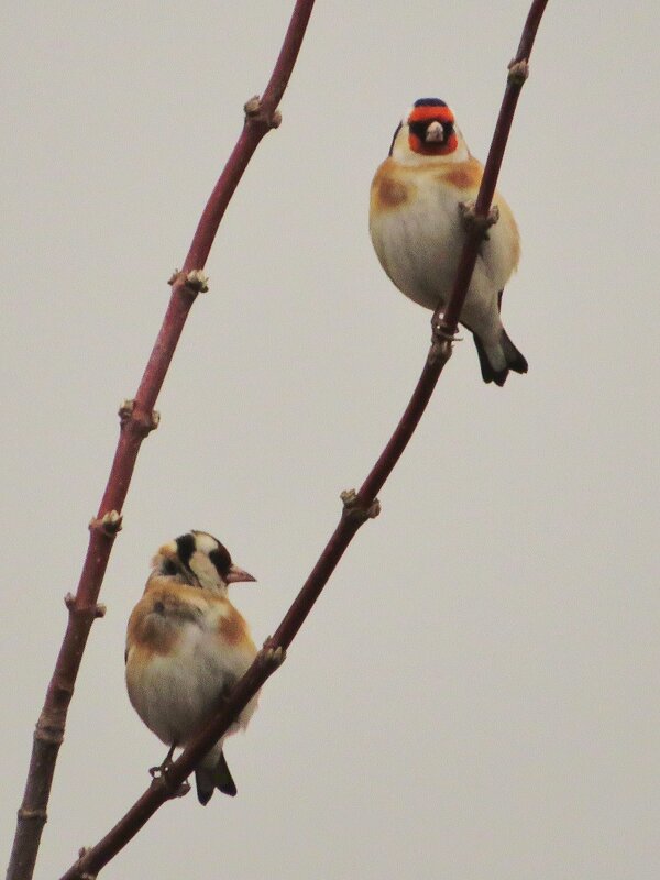
M 529 58 L 531 46 L 547 2 L 548 0 L 535 0 L 532 3 L 518 54 L 514 59 L 515 62 L 527 61 Z M 493 135 L 482 186 L 476 201 L 476 212 L 482 217 L 488 215 L 491 200 L 495 191 L 497 173 L 502 164 L 502 156 L 506 146 L 506 140 L 516 109 L 516 101 L 522 82 L 524 79 L 519 75 L 514 73 L 512 76 L 509 73 L 502 109 Z M 460 307 L 465 298 L 468 286 L 472 277 L 472 268 L 474 267 L 480 242 L 481 233 L 479 235 L 466 235 L 466 241 L 461 254 L 458 277 L 447 309 L 447 312 L 450 315 L 454 311 L 457 315 L 461 312 Z M 468 266 L 470 266 L 469 272 L 465 268 Z M 463 267 L 462 274 L 461 267 Z M 133 804 L 131 810 L 96 846 L 81 855 L 78 861 L 62 877 L 62 880 L 81 880 L 84 876 L 96 876 L 110 859 L 138 834 L 156 810 L 172 798 L 170 792 L 178 789 L 180 783 L 190 774 L 209 748 L 228 730 L 233 718 L 240 714 L 252 696 L 254 696 L 264 684 L 266 679 L 277 669 L 284 659 L 286 649 L 311 612 L 338 562 L 355 536 L 355 532 L 363 522 L 377 516 L 380 512 L 376 493 L 383 487 L 408 444 L 429 403 L 440 373 L 451 355 L 452 343 L 448 337 L 453 337 L 455 332 L 455 322 L 453 329 L 451 329 L 451 326 L 447 321 L 447 314 L 441 324 L 438 321 L 438 317 L 433 316 L 433 328 L 431 349 L 406 411 L 360 491 L 358 493 L 343 493 L 344 509 L 339 525 L 334 529 L 318 562 L 314 566 L 309 578 L 302 585 L 275 635 L 267 640 L 264 649 L 260 652 L 257 659 L 245 675 L 237 684 L 229 700 L 223 700 L 219 705 L 216 717 L 200 730 L 167 771 L 167 779 L 154 780 L 142 798 Z

